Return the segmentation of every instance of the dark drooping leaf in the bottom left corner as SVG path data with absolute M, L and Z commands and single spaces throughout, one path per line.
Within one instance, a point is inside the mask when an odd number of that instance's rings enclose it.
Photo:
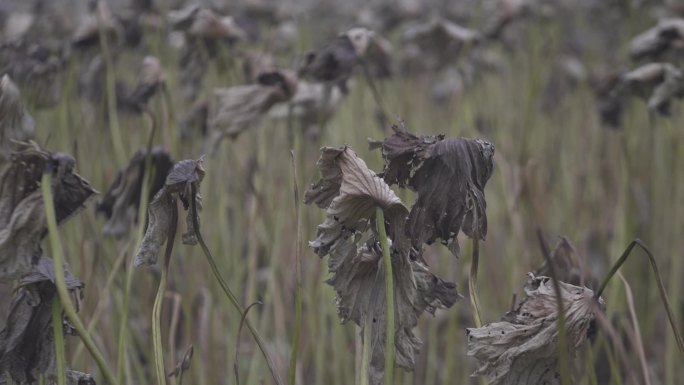
M 72 294 L 78 294 L 83 283 L 66 269 L 64 274 L 67 289 Z M 54 381 L 51 307 L 56 293 L 53 261 L 42 257 L 33 270 L 21 279 L 12 298 L 6 327 L 0 331 L 0 379 L 4 374 L 15 383 L 30 384 L 40 375 L 45 375 L 48 383 Z M 63 324 L 64 331 L 73 334 L 66 319 Z

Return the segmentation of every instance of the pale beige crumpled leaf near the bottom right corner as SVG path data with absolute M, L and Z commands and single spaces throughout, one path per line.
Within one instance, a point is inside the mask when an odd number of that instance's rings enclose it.
M 574 358 L 587 340 L 602 298 L 586 287 L 560 285 L 565 312 L 568 357 Z M 558 305 L 551 278 L 529 273 L 527 295 L 503 320 L 481 328 L 466 329 L 468 356 L 475 357 L 474 376 L 485 376 L 490 385 L 544 385 L 559 381 Z

